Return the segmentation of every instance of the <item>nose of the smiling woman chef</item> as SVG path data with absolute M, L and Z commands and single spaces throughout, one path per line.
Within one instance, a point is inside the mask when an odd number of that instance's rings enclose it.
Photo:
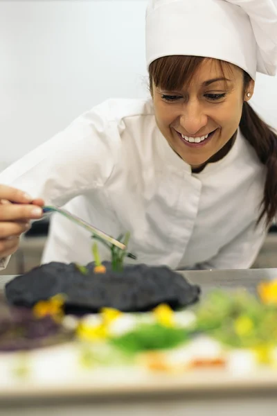
M 184 110 L 180 116 L 180 125 L 188 135 L 197 135 L 208 122 L 208 116 L 203 112 L 203 108 L 197 100 L 190 101 L 184 105 Z

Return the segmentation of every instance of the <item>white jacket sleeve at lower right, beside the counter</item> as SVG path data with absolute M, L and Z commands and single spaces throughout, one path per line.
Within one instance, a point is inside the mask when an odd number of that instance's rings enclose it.
M 251 223 L 235 239 L 224 245 L 215 257 L 197 265 L 197 268 L 205 270 L 250 268 L 258 256 L 266 236 L 267 229 L 263 221 L 260 221 L 258 226 L 256 223 Z

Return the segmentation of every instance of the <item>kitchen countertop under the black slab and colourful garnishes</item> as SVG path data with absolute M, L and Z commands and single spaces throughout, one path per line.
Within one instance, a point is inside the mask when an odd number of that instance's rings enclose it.
M 203 296 L 212 288 L 228 291 L 244 287 L 254 292 L 262 279 L 277 278 L 277 269 L 214 270 L 181 272 L 202 287 Z M 0 290 L 12 276 L 0 277 Z M 2 358 L 1 358 L 2 359 Z M 116 374 L 115 374 L 116 375 Z M 208 416 L 260 415 L 276 416 L 277 370 L 234 376 L 222 370 L 199 370 L 181 376 L 144 374 L 128 381 L 125 374 L 101 385 L 86 379 L 68 385 L 18 386 L 6 394 L 0 392 L 0 415 L 10 416 L 87 416 L 97 414 L 139 416 Z M 99 384 L 100 383 L 100 384 Z M 2 413 L 3 412 L 3 413 Z

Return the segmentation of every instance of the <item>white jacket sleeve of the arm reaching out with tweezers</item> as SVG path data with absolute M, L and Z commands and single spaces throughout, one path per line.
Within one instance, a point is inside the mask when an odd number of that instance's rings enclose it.
M 0 173 L 0 184 L 43 198 L 47 205 L 62 206 L 102 187 L 113 171 L 119 149 L 118 125 L 105 119 L 105 105 L 100 105 Z M 0 268 L 5 268 L 8 260 L 0 259 Z

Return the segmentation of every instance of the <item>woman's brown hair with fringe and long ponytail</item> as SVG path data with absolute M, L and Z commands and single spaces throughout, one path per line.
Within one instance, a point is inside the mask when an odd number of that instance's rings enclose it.
M 152 92 L 153 83 L 167 91 L 174 91 L 188 85 L 193 74 L 205 59 L 197 56 L 174 55 L 155 60 L 149 68 L 150 92 Z M 223 61 L 218 62 L 222 73 L 226 68 L 231 70 L 231 65 Z M 243 94 L 250 81 L 251 77 L 244 72 Z M 267 167 L 258 222 L 265 216 L 266 225 L 269 226 L 277 211 L 277 135 L 246 101 L 242 107 L 240 130 L 244 138 L 256 150 L 260 162 Z

